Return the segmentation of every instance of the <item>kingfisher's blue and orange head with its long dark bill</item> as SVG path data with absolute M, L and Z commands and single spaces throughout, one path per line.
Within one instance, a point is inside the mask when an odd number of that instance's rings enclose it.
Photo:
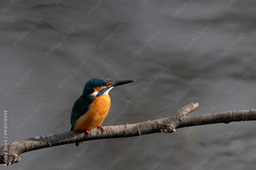
M 97 77 L 88 81 L 83 89 L 84 96 L 99 97 L 101 95 L 108 95 L 109 90 L 114 86 L 119 86 L 126 83 L 134 82 L 135 80 L 112 81 L 108 78 Z

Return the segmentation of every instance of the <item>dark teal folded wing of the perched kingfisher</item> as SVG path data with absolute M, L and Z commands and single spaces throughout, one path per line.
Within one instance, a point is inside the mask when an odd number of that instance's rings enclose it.
M 74 124 L 76 120 L 79 119 L 83 114 L 85 114 L 89 110 L 90 104 L 93 102 L 94 97 L 88 96 L 83 97 L 80 96 L 77 101 L 75 101 L 74 106 L 72 108 L 71 117 L 70 117 L 70 123 L 71 123 L 71 129 L 73 130 Z

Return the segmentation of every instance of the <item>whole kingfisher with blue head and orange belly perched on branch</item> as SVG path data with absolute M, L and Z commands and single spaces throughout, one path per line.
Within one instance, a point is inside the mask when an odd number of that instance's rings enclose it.
M 95 127 L 101 128 L 103 120 L 110 108 L 109 90 L 114 86 L 134 82 L 135 80 L 112 81 L 108 78 L 97 77 L 88 81 L 83 89 L 83 94 L 75 101 L 71 111 L 70 130 L 86 131 Z M 82 142 L 76 142 L 76 146 Z

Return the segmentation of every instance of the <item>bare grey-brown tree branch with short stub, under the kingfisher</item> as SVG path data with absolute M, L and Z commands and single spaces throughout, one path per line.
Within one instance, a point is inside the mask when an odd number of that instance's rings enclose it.
M 5 152 L 8 152 L 6 165 L 10 166 L 13 163 L 18 163 L 20 161 L 19 155 L 22 153 L 65 145 L 68 143 L 96 139 L 132 137 L 160 132 L 172 133 L 175 132 L 175 129 L 182 127 L 256 120 L 255 109 L 186 116 L 195 111 L 198 107 L 198 103 L 190 103 L 173 113 L 171 116 L 163 119 L 118 126 L 105 126 L 105 131 L 94 128 L 90 130 L 91 135 L 88 135 L 85 132 L 68 131 L 8 143 L 8 151 L 4 151 L 4 147 L 6 146 L 0 146 L 0 163 L 6 164 L 6 162 L 4 162 Z

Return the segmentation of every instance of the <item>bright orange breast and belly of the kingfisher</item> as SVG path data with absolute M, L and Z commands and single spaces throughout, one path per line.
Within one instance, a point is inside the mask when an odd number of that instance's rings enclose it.
M 89 110 L 74 124 L 74 130 L 90 130 L 101 125 L 109 112 L 110 105 L 109 95 L 95 97 Z

